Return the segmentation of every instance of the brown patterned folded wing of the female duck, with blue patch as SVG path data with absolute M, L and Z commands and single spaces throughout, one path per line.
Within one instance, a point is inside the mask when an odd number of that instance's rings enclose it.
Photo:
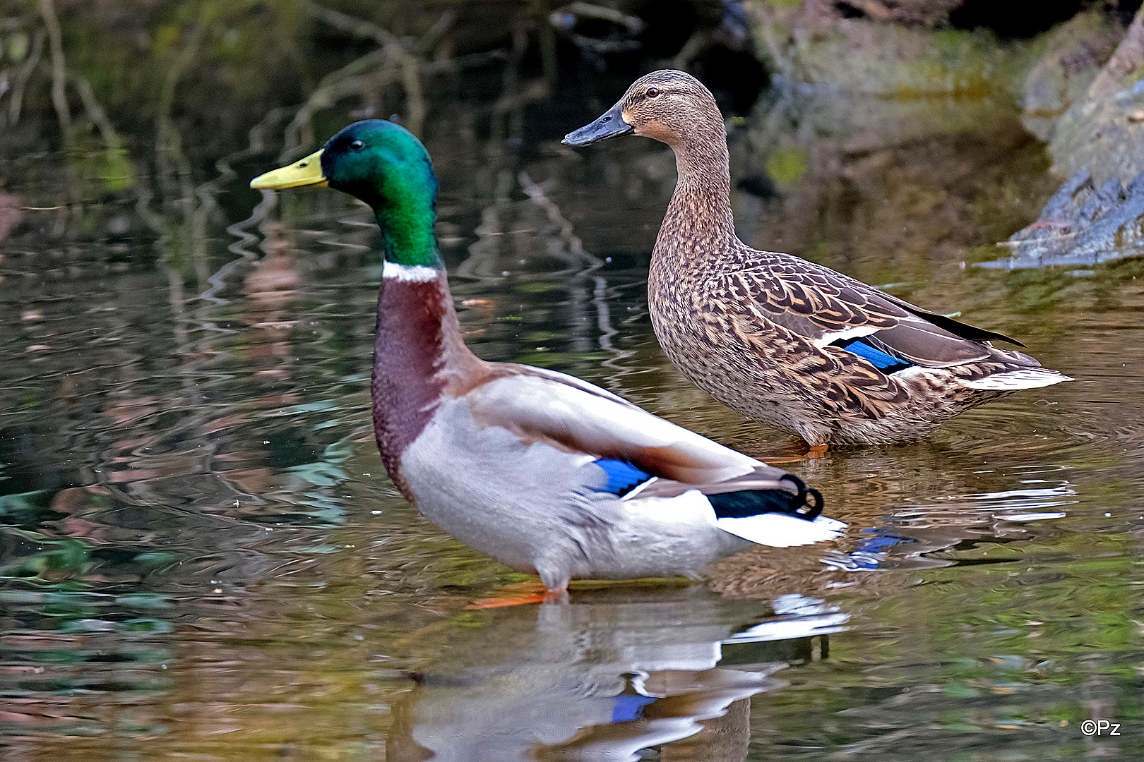
M 1007 336 L 921 310 L 842 273 L 791 255 L 750 251 L 750 266 L 721 275 L 714 284 L 724 303 L 742 305 L 818 347 L 836 346 L 871 361 L 883 372 L 909 366 L 947 368 L 980 360 L 1036 368 Z

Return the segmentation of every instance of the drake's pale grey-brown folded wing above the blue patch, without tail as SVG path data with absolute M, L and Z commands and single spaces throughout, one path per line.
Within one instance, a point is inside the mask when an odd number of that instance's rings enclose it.
M 478 425 L 500 426 L 525 441 L 629 463 L 643 473 L 686 486 L 753 476 L 768 488 L 789 489 L 780 486 L 785 471 L 676 426 L 579 378 L 529 366 L 491 368 L 490 380 L 464 395 Z

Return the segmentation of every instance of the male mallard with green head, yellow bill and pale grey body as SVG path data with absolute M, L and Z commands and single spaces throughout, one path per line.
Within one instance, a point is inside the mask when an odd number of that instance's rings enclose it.
M 251 181 L 301 185 L 376 215 L 378 448 L 394 484 L 446 532 L 558 595 L 570 578 L 698 576 L 752 543 L 803 545 L 843 527 L 778 468 L 571 376 L 472 354 L 434 240 L 437 178 L 404 128 L 356 122 Z

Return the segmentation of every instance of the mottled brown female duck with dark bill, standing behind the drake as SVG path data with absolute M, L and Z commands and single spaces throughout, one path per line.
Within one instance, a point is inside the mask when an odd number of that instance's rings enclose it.
M 675 151 L 678 184 L 652 251 L 648 295 L 667 356 L 720 402 L 815 449 L 919 440 L 969 408 L 1072 380 L 1001 334 L 934 314 L 734 234 L 726 130 L 710 91 L 652 72 L 564 138 L 635 133 Z

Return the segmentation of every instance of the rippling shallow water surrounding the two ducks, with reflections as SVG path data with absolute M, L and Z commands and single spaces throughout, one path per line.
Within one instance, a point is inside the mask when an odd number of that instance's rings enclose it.
M 858 155 L 780 111 L 732 135 L 737 181 L 774 146 L 804 162 L 738 192 L 745 238 L 960 310 L 1078 380 L 788 464 L 850 524 L 837 544 L 566 607 L 467 609 L 523 576 L 384 478 L 362 207 L 256 206 L 239 178 L 217 203 L 249 219 L 110 246 L 26 211 L 43 235 L 0 242 L 6 759 L 1139 759 L 1144 266 L 964 266 L 1056 185 L 1011 125 Z M 507 155 L 429 136 L 467 340 L 797 456 L 659 352 L 644 279 L 670 154 L 558 147 L 586 115 L 539 114 Z

